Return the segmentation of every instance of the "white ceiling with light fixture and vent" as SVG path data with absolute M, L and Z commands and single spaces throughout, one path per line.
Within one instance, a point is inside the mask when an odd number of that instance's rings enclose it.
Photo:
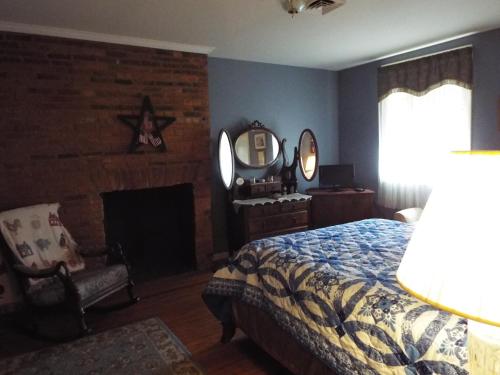
M 347 0 L 293 19 L 281 1 L 0 0 L 0 29 L 340 70 L 500 27 L 500 0 Z

